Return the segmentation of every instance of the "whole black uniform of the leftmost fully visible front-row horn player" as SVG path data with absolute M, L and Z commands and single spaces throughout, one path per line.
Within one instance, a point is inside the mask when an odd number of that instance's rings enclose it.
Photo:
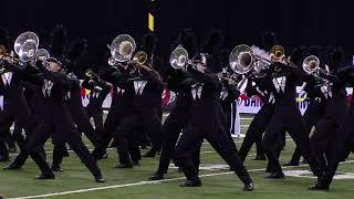
M 40 66 L 40 64 L 38 65 Z M 42 73 L 29 77 L 28 81 L 38 85 L 37 93 L 40 96 L 38 100 L 41 102 L 41 109 L 39 109 L 41 121 L 33 129 L 33 135 L 28 142 L 30 154 L 38 154 L 46 139 L 52 136 L 54 144 L 67 143 L 95 177 L 96 181 L 103 182 L 101 170 L 83 144 L 64 101 L 66 93 L 71 88 L 72 81 L 65 74 L 50 72 L 45 69 L 42 70 Z M 37 161 L 42 171 L 37 179 L 54 178 L 43 155 L 39 156 Z

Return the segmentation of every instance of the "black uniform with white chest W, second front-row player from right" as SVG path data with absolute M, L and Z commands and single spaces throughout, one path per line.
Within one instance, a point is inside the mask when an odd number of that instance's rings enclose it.
M 302 71 L 295 66 L 273 63 L 267 72 L 264 86 L 274 94 L 274 114 L 267 126 L 263 136 L 263 147 L 272 174 L 268 178 L 284 178 L 279 164 L 278 155 L 274 153 L 274 143 L 279 133 L 287 130 L 295 142 L 303 157 L 308 160 L 314 174 L 317 174 L 317 163 L 310 157 L 310 139 L 305 134 L 304 122 L 296 104 L 296 83 L 302 78 Z

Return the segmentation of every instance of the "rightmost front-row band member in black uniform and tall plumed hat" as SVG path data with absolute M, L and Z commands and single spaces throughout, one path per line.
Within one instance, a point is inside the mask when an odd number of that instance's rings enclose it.
M 340 145 L 346 144 L 343 138 L 350 138 L 351 135 L 347 133 L 350 124 L 347 119 L 351 119 L 351 114 L 345 114 L 347 113 L 345 85 L 352 82 L 352 76 L 351 70 L 342 69 L 343 55 L 343 50 L 334 49 L 329 63 L 331 71 L 324 74 L 326 81 L 323 82 L 321 91 L 326 97 L 325 109 L 311 136 L 311 149 L 319 159 L 322 172 L 317 176 L 319 184 L 310 187 L 310 190 L 329 189 L 337 164 L 343 158 L 343 148 Z

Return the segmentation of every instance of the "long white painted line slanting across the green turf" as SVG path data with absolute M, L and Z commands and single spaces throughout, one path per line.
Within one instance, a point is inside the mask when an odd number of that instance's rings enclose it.
M 344 161 L 344 163 L 341 163 L 341 165 L 348 164 L 348 163 L 354 163 L 354 160 Z M 282 167 L 282 168 L 283 169 L 285 169 L 285 168 L 299 168 L 299 167 L 308 167 L 308 166 L 309 165 L 288 166 L 288 167 Z M 266 168 L 251 169 L 251 170 L 248 170 L 248 171 L 249 172 L 256 172 L 256 171 L 263 171 L 263 170 L 266 170 Z M 202 177 L 222 176 L 222 175 L 229 175 L 229 174 L 233 174 L 233 171 L 200 175 L 199 177 L 202 178 Z M 142 186 L 142 185 L 154 185 L 154 184 L 160 184 L 160 182 L 167 182 L 167 181 L 176 181 L 176 180 L 181 180 L 181 179 L 185 179 L 185 177 L 171 178 L 171 179 L 163 179 L 163 180 L 156 180 L 156 181 L 139 181 L 139 182 L 135 182 L 135 184 L 123 184 L 123 185 L 113 185 L 113 186 L 106 186 L 106 187 L 77 189 L 77 190 L 73 190 L 73 191 L 53 192 L 53 193 L 46 193 L 46 195 L 17 197 L 17 198 L 9 198 L 9 199 L 44 198 L 44 197 L 52 197 L 52 196 L 63 196 L 63 195 L 71 195 L 71 193 L 87 192 L 87 191 L 94 191 L 94 190 L 105 190 L 105 189 L 114 189 L 114 188 L 122 188 L 122 187 L 133 187 L 133 186 Z

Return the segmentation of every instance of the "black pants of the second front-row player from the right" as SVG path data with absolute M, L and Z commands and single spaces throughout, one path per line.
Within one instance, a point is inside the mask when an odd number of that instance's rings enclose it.
M 271 117 L 263 136 L 263 147 L 268 160 L 272 165 L 274 172 L 282 172 L 279 158 L 274 153 L 279 134 L 287 130 L 292 139 L 295 142 L 303 157 L 308 160 L 312 170 L 317 171 L 317 163 L 313 157 L 310 157 L 310 139 L 304 129 L 304 122 L 299 108 L 293 105 L 283 105 L 274 107 L 274 115 Z

